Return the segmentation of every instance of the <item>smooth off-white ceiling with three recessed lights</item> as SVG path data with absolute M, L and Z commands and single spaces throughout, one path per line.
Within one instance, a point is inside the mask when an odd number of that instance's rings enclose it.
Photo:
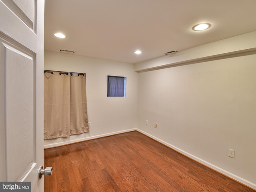
M 202 22 L 212 26 L 192 30 Z M 252 31 L 256 0 L 45 0 L 45 50 L 120 62 L 138 63 Z M 66 38 L 56 38 L 56 32 Z

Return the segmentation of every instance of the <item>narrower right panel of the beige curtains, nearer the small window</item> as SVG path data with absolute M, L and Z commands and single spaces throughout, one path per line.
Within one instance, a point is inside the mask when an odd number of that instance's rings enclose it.
M 85 75 L 70 76 L 70 135 L 89 132 Z

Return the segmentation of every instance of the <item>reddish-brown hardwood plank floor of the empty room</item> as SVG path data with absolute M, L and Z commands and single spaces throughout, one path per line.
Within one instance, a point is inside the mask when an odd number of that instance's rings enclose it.
M 255 192 L 128 132 L 44 150 L 45 192 Z

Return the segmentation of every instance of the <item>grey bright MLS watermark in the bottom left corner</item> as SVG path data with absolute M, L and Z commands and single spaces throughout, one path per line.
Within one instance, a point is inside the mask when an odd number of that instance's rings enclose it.
M 31 182 L 0 182 L 0 192 L 31 192 Z

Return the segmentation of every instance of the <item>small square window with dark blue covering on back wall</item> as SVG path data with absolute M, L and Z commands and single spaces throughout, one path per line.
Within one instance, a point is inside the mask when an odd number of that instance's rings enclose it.
M 108 97 L 126 96 L 126 77 L 108 75 Z

